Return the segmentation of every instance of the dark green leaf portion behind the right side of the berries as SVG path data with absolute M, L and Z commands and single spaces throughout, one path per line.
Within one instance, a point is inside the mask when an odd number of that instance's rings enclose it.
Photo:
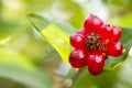
M 132 29 L 129 28 L 122 28 L 122 37 L 121 43 L 125 48 L 125 52 L 120 57 L 110 57 L 106 62 L 105 70 L 112 70 L 117 67 L 119 67 L 127 58 L 128 53 L 132 46 Z

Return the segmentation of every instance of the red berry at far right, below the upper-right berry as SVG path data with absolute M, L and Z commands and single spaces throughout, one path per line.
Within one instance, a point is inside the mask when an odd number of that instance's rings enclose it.
M 123 53 L 123 46 L 120 42 L 110 42 L 107 45 L 107 54 L 118 57 Z

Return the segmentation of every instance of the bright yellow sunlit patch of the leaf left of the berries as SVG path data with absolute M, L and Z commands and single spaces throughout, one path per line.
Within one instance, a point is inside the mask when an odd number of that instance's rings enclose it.
M 47 42 L 59 53 L 64 62 L 68 63 L 68 56 L 72 51 L 69 45 L 69 35 L 61 31 L 56 25 L 50 24 L 42 31 Z

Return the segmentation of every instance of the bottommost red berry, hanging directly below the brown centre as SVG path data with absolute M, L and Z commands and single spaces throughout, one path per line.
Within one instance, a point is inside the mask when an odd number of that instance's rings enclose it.
M 90 74 L 97 76 L 102 73 L 106 56 L 101 52 L 91 52 L 87 56 L 87 65 Z

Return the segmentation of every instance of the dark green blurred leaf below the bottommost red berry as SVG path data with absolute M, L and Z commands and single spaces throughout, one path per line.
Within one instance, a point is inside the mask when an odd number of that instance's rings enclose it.
M 70 88 L 112 88 L 117 85 L 118 70 L 106 72 L 99 76 L 88 74 L 87 67 L 76 76 Z

